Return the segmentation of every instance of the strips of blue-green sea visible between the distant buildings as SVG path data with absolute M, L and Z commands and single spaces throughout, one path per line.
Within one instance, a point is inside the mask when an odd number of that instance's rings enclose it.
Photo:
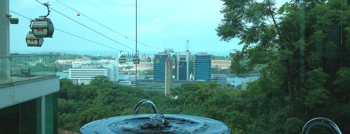
M 60 79 L 69 77 L 69 73 L 68 72 L 62 72 L 62 71 L 57 71 L 56 75 L 59 75 Z M 128 76 L 128 75 L 135 76 L 134 74 L 118 74 L 118 77 L 119 77 L 119 79 L 124 79 L 124 77 Z M 140 74 L 140 75 L 137 76 L 137 79 L 143 79 L 145 76 L 147 76 L 147 75 Z M 238 76 L 235 76 L 235 75 L 227 75 L 228 83 L 230 83 L 231 85 L 235 85 L 235 86 L 237 86 L 239 84 L 242 84 L 242 80 L 255 80 L 257 78 L 259 78 L 259 76 L 257 76 L 257 75 L 247 76 L 245 78 L 238 77 Z

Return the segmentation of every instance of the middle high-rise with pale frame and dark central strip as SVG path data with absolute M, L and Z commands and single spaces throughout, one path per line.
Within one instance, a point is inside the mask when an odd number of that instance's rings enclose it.
M 175 79 L 189 80 L 191 52 L 175 52 Z

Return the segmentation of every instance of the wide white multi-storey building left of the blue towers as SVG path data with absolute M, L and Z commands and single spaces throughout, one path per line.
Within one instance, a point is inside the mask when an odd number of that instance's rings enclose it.
M 107 76 L 113 82 L 118 81 L 118 63 L 116 60 L 75 61 L 69 69 L 69 79 L 76 84 L 89 84 L 94 76 Z

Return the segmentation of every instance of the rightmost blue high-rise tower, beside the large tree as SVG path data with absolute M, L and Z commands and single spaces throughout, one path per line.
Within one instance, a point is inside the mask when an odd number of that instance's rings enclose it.
M 206 52 L 198 52 L 193 63 L 194 80 L 211 81 L 211 59 Z

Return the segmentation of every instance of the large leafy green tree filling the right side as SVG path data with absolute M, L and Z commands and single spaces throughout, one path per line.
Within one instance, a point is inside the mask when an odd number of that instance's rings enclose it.
M 230 69 L 239 76 L 261 69 L 261 77 L 248 88 L 262 96 L 250 113 L 256 118 L 251 129 L 290 133 L 296 128 L 290 120 L 323 116 L 348 133 L 348 110 L 340 107 L 350 105 L 348 97 L 341 98 L 350 92 L 339 86 L 347 74 L 341 70 L 350 67 L 347 1 L 291 0 L 279 8 L 274 0 L 222 1 L 224 18 L 217 35 L 223 41 L 239 38 L 243 45 L 230 53 Z M 266 119 L 268 123 L 260 122 Z

